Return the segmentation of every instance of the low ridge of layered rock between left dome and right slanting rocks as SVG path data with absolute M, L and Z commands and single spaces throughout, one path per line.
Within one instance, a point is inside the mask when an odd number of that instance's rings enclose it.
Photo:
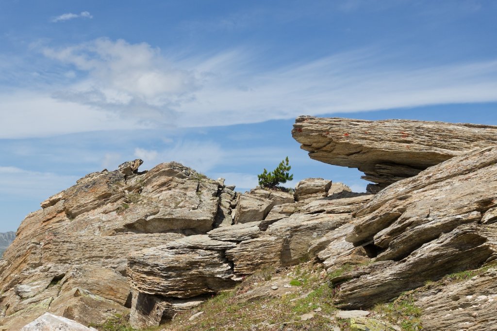
M 331 181 L 324 183 L 320 197 L 327 195 L 330 186 Z M 238 200 L 237 210 L 241 215 L 249 213 L 240 207 L 244 199 L 271 201 L 269 192 L 256 191 Z M 315 240 L 348 223 L 352 210 L 371 198 L 356 195 L 277 205 L 273 208 L 293 204 L 299 207 L 272 220 L 263 215 L 253 217 L 247 223 L 219 227 L 206 235 L 184 237 L 133 253 L 127 271 L 139 298 L 132 304 L 133 326 L 158 325 L 173 316 L 180 310 L 171 302 L 182 300 L 185 305 L 200 304 L 207 296 L 233 288 L 257 270 L 308 260 L 309 247 Z

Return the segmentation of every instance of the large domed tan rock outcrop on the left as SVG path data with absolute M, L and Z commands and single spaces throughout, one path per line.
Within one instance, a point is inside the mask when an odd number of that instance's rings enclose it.
M 91 173 L 24 219 L 0 260 L 0 330 L 45 312 L 83 325 L 127 314 L 129 254 L 205 234 L 220 210 L 231 224 L 223 202 L 235 193 L 222 181 L 175 162 L 138 172 L 141 163 Z

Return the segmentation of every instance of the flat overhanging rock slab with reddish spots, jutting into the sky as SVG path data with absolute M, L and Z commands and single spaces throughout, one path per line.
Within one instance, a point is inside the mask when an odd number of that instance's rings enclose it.
M 357 168 L 378 192 L 474 148 L 497 144 L 497 127 L 410 120 L 365 121 L 300 116 L 292 135 L 309 156 Z

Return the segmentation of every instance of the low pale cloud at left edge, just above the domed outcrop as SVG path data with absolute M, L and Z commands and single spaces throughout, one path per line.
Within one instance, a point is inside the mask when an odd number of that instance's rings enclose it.
M 77 177 L 0 166 L 0 196 L 42 201 L 74 184 Z

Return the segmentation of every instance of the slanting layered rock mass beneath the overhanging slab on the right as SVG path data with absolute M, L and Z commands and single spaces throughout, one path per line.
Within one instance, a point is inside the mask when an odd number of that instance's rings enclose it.
M 369 245 L 374 263 L 331 280 L 340 284 L 337 302 L 371 307 L 427 280 L 495 263 L 496 206 L 497 146 L 392 184 L 355 213 L 346 240 Z

